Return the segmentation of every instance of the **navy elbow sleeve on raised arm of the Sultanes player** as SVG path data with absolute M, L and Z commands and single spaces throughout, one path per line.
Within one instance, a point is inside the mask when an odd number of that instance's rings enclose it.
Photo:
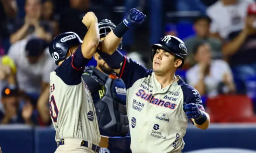
M 120 63 L 124 61 L 124 55 L 121 52 L 116 50 L 112 55 L 109 55 L 105 52 L 97 50 L 100 57 L 109 65 L 110 68 L 119 69 L 121 68 Z

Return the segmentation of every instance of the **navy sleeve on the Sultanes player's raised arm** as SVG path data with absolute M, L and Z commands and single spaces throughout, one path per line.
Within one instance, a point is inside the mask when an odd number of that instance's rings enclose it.
M 120 68 L 119 77 L 124 81 L 127 90 L 138 80 L 147 77 L 153 70 L 147 70 L 140 63 L 125 57 Z

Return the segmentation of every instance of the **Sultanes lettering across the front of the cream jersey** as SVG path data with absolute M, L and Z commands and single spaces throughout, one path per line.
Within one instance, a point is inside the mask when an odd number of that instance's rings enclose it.
M 145 101 L 150 101 L 149 103 L 157 105 L 157 106 L 163 106 L 165 108 L 169 108 L 169 109 L 175 109 L 177 104 L 175 103 L 171 103 L 169 101 L 163 101 L 162 99 L 158 99 L 158 98 L 154 98 L 154 96 L 152 96 L 152 94 L 147 94 L 145 93 L 144 90 L 140 89 L 138 90 L 138 92 L 136 93 L 136 96 L 142 98 Z

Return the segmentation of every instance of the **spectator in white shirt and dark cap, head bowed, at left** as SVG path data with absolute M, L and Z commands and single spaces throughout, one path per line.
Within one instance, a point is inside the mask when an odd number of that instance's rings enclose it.
M 19 89 L 29 95 L 35 105 L 40 94 L 44 90 L 49 91 L 47 86 L 50 73 L 56 68 L 46 49 L 47 45 L 48 43 L 42 39 L 23 39 L 13 44 L 8 53 L 17 67 L 16 78 Z

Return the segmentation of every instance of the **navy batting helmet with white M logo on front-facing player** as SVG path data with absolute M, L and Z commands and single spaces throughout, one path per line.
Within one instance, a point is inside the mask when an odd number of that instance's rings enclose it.
M 152 44 L 152 54 L 151 59 L 153 61 L 154 55 L 156 54 L 157 49 L 163 49 L 166 52 L 169 52 L 170 54 L 174 55 L 178 59 L 182 60 L 182 64 L 179 66 L 179 68 L 182 68 L 184 61 L 187 58 L 187 47 L 185 43 L 180 40 L 177 37 L 166 35 L 165 37 L 162 37 L 158 44 Z

